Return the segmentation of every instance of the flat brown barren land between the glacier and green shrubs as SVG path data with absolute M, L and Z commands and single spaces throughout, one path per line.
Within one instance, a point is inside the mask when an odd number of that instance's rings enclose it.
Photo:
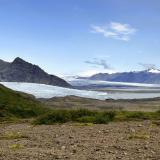
M 76 96 L 54 97 L 51 99 L 40 99 L 45 105 L 51 108 L 87 108 L 98 110 L 126 110 L 154 112 L 160 110 L 160 98 L 150 99 L 124 99 L 124 100 L 96 100 Z

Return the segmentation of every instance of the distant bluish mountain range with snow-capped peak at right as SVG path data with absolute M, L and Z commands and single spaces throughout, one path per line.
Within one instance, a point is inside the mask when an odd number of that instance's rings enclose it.
M 137 72 L 121 73 L 99 73 L 88 78 L 89 80 L 111 81 L 111 82 L 132 82 L 132 83 L 153 83 L 160 84 L 160 70 L 149 69 Z

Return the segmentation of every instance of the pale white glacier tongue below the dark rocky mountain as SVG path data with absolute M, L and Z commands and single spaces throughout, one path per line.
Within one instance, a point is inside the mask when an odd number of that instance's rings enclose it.
M 96 91 L 84 91 L 69 89 L 45 84 L 22 83 L 22 82 L 0 82 L 4 86 L 15 91 L 25 92 L 34 95 L 36 98 L 64 97 L 69 95 L 105 100 L 108 94 Z

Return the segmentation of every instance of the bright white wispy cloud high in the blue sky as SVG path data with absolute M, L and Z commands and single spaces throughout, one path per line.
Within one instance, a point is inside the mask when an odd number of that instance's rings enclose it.
M 118 22 L 110 22 L 103 26 L 92 25 L 91 28 L 92 33 L 100 33 L 103 34 L 104 37 L 122 41 L 129 41 L 130 36 L 135 34 L 137 31 L 129 24 L 122 24 Z

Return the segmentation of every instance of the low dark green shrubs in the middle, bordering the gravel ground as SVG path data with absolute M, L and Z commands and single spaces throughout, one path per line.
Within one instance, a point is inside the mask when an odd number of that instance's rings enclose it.
M 115 112 L 97 112 L 89 110 L 54 110 L 38 117 L 35 124 L 54 124 L 65 122 L 108 123 L 115 117 Z

